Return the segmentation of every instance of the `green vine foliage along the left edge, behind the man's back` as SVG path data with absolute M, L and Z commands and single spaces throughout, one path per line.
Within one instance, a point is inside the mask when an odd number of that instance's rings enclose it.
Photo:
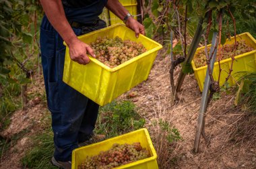
M 10 112 L 21 107 L 21 87 L 30 83 L 36 70 L 39 1 L 0 0 L 0 129 L 9 123 Z

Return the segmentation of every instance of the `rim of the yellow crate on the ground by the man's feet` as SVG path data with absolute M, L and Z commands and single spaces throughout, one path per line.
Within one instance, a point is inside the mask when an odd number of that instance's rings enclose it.
M 135 130 L 135 131 L 131 131 L 131 132 L 129 132 L 129 133 L 125 133 L 125 134 L 122 134 L 122 135 L 130 135 L 130 134 L 132 134 L 132 133 L 137 133 L 138 131 L 144 131 L 144 132 L 146 133 L 146 138 L 148 139 L 149 147 L 150 147 L 150 150 L 152 151 L 153 156 L 151 156 L 151 157 L 149 157 L 149 158 L 145 158 L 145 159 L 143 159 L 143 160 L 138 160 L 138 161 L 136 161 L 136 162 L 131 162 L 131 163 L 129 163 L 129 164 L 125 164 L 125 165 L 122 165 L 122 166 L 118 166 L 118 167 L 116 167 L 115 169 L 118 169 L 118 168 L 125 168 L 126 166 L 129 166 L 129 167 L 131 167 L 131 166 L 136 166 L 137 164 L 141 164 L 141 162 L 150 162 L 150 161 L 156 160 L 156 158 L 157 158 L 156 150 L 154 149 L 154 146 L 153 146 L 153 144 L 152 144 L 152 140 L 151 140 L 151 138 L 150 138 L 150 133 L 148 132 L 148 129 L 146 129 L 146 128 L 137 129 L 137 130 Z M 81 148 L 76 148 L 76 149 L 73 150 L 73 152 L 72 152 L 72 160 L 75 158 L 75 151 L 82 150 L 82 149 L 84 149 L 84 148 L 88 148 L 88 147 L 92 147 L 92 146 L 97 146 L 98 144 L 101 144 L 102 142 L 112 141 L 113 139 L 117 139 L 117 137 L 119 137 L 119 136 L 121 136 L 121 135 L 118 135 L 118 136 L 116 136 L 116 137 L 111 137 L 111 138 L 109 138 L 109 139 L 105 139 L 105 140 L 103 140 L 103 141 L 101 141 L 101 142 L 98 142 L 98 143 L 96 143 L 96 144 L 90 144 L 90 145 L 88 145 L 88 146 L 84 146 L 84 147 L 81 147 Z M 72 165 L 72 168 L 75 168 L 75 163 L 74 163 L 74 162 L 72 162 L 71 165 Z M 113 169 L 114 169 L 114 168 L 113 168 Z

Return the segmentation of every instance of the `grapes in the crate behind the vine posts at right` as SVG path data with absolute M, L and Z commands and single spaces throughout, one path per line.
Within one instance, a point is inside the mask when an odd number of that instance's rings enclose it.
M 236 53 L 235 56 L 239 55 L 239 54 L 244 54 L 246 52 L 250 52 L 254 50 L 253 48 L 251 48 L 250 46 L 248 46 L 247 44 L 245 44 L 245 40 L 241 40 L 238 41 L 236 43 Z M 207 47 L 207 51 L 208 54 L 210 53 L 210 47 Z M 232 55 L 234 55 L 234 44 L 225 44 L 224 46 L 221 47 L 221 52 L 222 52 L 222 58 L 221 60 L 224 60 L 226 58 L 231 58 Z M 217 52 L 217 57 L 219 57 L 219 54 Z M 194 58 L 194 62 L 195 62 L 195 67 L 199 68 L 201 66 L 205 66 L 207 64 L 207 59 L 205 57 L 205 50 L 204 48 L 202 50 L 199 50 L 199 52 L 197 52 L 197 54 L 195 54 L 195 58 Z M 218 62 L 218 59 L 216 59 L 216 62 Z

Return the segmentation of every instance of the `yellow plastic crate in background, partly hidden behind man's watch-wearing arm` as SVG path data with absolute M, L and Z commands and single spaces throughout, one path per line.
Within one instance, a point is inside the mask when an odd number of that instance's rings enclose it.
M 119 0 L 120 3 L 131 13 L 131 15 L 135 15 L 134 18 L 137 20 L 137 1 L 136 0 Z M 110 16 L 110 25 L 115 23 L 123 23 L 117 15 L 109 11 Z

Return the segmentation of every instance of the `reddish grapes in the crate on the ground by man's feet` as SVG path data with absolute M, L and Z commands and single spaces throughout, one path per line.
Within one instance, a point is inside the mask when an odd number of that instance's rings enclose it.
M 142 148 L 139 142 L 133 144 L 113 144 L 106 152 L 98 156 L 87 156 L 78 169 L 109 169 L 150 157 L 150 152 Z

